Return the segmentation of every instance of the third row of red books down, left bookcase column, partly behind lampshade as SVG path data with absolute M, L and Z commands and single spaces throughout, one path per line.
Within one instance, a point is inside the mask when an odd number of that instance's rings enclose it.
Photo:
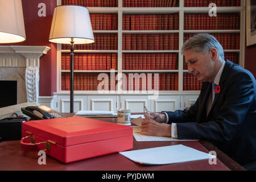
M 117 50 L 117 34 L 94 34 L 92 44 L 75 44 L 75 50 Z M 69 44 L 62 44 L 61 49 L 70 49 Z

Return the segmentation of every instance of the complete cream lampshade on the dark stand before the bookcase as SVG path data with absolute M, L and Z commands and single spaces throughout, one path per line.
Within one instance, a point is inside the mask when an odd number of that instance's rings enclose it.
M 89 11 L 84 6 L 64 5 L 54 9 L 49 42 L 70 44 L 94 42 Z

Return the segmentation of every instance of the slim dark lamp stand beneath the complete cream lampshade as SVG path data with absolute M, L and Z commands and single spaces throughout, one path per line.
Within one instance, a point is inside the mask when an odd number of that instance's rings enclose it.
M 70 44 L 70 113 L 74 112 L 74 39 L 71 38 Z

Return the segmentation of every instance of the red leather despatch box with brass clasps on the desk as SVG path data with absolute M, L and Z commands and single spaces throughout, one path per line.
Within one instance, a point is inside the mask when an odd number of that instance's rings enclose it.
M 46 150 L 47 155 L 63 163 L 133 148 L 131 126 L 83 117 L 24 122 L 22 137 L 23 150 Z

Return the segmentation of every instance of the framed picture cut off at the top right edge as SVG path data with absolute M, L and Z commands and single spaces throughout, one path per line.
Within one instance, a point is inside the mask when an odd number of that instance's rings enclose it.
M 256 44 L 256 1 L 246 0 L 246 46 Z

